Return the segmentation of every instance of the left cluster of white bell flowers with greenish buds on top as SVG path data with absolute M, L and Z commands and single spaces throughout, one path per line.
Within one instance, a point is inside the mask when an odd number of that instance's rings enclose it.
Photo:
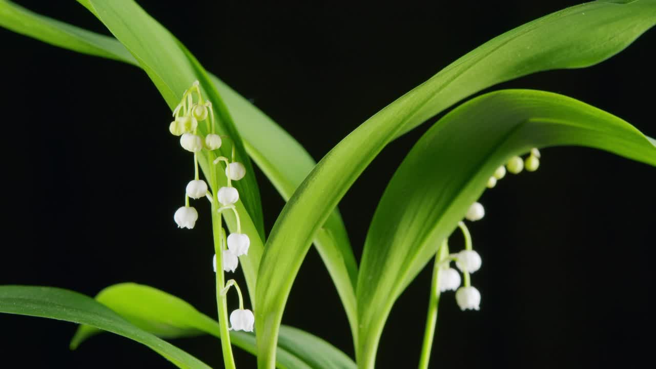
M 173 220 L 179 228 L 192 229 L 198 220 L 198 212 L 193 206 L 190 206 L 189 199 L 197 200 L 207 198 L 213 201 L 213 194 L 210 192 L 207 183 L 199 178 L 198 171 L 198 153 L 201 150 L 210 152 L 221 147 L 222 139 L 215 133 L 215 117 L 211 102 L 204 100 L 201 94 L 199 82 L 195 81 L 192 87 L 182 94 L 180 104 L 173 111 L 174 120 L 169 125 L 169 131 L 180 137 L 180 146 L 194 154 L 194 179 L 188 183 L 185 190 L 184 206 L 180 207 L 173 215 Z M 199 133 L 199 122 L 207 122 L 207 132 L 205 137 Z M 232 181 L 239 181 L 246 175 L 246 168 L 242 163 L 235 161 L 235 148 L 232 145 L 232 160 L 218 156 L 213 164 L 222 167 L 225 163 L 225 173 L 228 179 L 227 186 L 222 186 L 216 191 L 216 200 L 220 207 L 218 212 L 230 210 L 234 213 L 237 220 L 237 232 L 231 233 L 227 239 L 222 232 L 221 240 L 221 263 L 222 269 L 226 272 L 234 272 L 239 265 L 239 256 L 247 255 L 251 240 L 248 235 L 241 233 L 241 222 L 239 221 L 239 212 L 235 204 L 239 201 L 239 192 L 232 186 Z M 227 247 L 226 247 L 227 244 Z M 214 271 L 216 272 L 216 255 L 214 256 Z M 223 272 L 221 271 L 221 272 Z M 231 330 L 245 330 L 252 332 L 255 316 L 248 309 L 243 309 L 243 299 L 241 290 L 234 280 L 226 282 L 222 289 L 222 295 L 225 296 L 231 286 L 234 286 L 239 294 L 239 309 L 230 314 Z

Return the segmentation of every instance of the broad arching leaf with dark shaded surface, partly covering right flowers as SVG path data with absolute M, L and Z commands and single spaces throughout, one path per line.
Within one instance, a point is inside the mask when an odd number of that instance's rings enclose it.
M 533 147 L 562 145 L 656 165 L 654 143 L 626 121 L 543 91 L 474 98 L 417 141 L 386 188 L 365 242 L 358 279 L 365 367 L 373 367 L 392 304 L 480 197 L 495 169 Z

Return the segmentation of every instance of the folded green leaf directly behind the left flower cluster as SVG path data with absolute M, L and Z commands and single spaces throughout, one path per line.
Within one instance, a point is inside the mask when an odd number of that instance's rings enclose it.
M 191 83 L 199 79 L 203 94 L 212 102 L 216 114 L 216 131 L 221 135 L 230 136 L 230 140 L 224 140 L 220 148 L 223 156 L 230 157 L 232 145 L 236 146 L 237 161 L 246 166 L 247 175 L 241 181 L 237 181 L 239 190 L 239 202 L 237 209 L 241 217 L 243 232 L 251 236 L 251 248 L 248 256 L 240 257 L 241 267 L 249 286 L 249 292 L 255 289 L 256 271 L 262 253 L 262 237 L 264 227 L 262 223 L 262 205 L 260 204 L 259 192 L 253 167 L 247 157 L 241 137 L 228 110 L 223 104 L 213 86 L 207 84 L 205 71 L 195 60 L 190 60 L 187 54 L 178 47 L 177 40 L 161 24 L 157 23 L 141 7 L 132 0 L 79 0 L 79 3 L 87 7 L 96 17 L 112 32 L 112 34 L 133 54 L 138 64 L 155 83 L 157 89 L 166 100 L 171 109 L 180 102 L 182 94 L 191 86 Z M 161 126 L 163 128 L 164 124 Z M 154 127 L 155 128 L 155 127 Z M 160 128 L 160 129 L 161 129 Z M 199 124 L 199 130 L 203 135 L 208 132 L 205 124 Z M 184 150 L 181 150 L 184 154 Z M 209 178 L 209 165 L 213 154 L 206 150 L 199 153 L 199 163 Z M 222 171 L 218 173 L 218 183 L 221 186 L 226 183 L 226 177 Z M 209 181 L 212 183 L 213 181 Z M 216 191 L 218 188 L 213 188 Z M 227 214 L 227 213 L 226 213 Z M 236 228 L 236 222 L 232 215 L 226 216 L 226 221 L 231 229 Z M 259 236 L 259 237 L 256 237 Z M 251 292 L 251 301 L 254 295 Z

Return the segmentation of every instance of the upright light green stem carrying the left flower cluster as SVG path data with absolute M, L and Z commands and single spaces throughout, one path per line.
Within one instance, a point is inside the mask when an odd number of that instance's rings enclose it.
M 214 188 L 212 194 L 212 232 L 214 235 L 214 251 L 216 253 L 216 307 L 218 309 L 218 326 L 221 336 L 221 349 L 223 351 L 223 362 L 226 369 L 236 369 L 235 359 L 232 356 L 232 345 L 230 345 L 230 330 L 228 329 L 228 304 L 226 296 L 221 293 L 225 285 L 223 274 L 223 244 L 226 234 L 221 227 L 221 213 L 218 211 L 218 199 L 216 198 L 216 169 L 210 165 L 210 178 Z

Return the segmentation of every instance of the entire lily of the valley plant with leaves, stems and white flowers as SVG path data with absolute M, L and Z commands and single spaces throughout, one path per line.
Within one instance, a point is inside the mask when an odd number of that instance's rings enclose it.
M 485 207 L 478 202 L 483 191 L 502 185 L 508 173 L 537 170 L 540 149 L 548 146 L 590 146 L 656 165 L 656 141 L 573 98 L 502 90 L 466 100 L 516 77 L 602 62 L 656 24 L 655 0 L 585 3 L 495 37 L 367 119 L 319 163 L 274 121 L 205 72 L 133 0 L 78 1 L 115 38 L 5 0 L 0 0 L 0 25 L 148 73 L 173 112 L 171 122 L 161 122 L 159 129 L 169 124 L 194 171 L 184 200 L 182 188 L 171 194 L 172 203 L 180 202 L 172 221 L 180 232 L 190 232 L 199 217 L 212 220 L 213 234 L 207 237 L 215 257 L 198 263 L 207 269 L 214 265 L 217 314 L 203 315 L 176 297 L 138 284 L 109 286 L 95 300 L 56 288 L 0 287 L 1 312 L 80 323 L 73 348 L 105 330 L 148 345 L 180 368 L 208 368 L 158 337 L 204 332 L 220 338 L 226 368 L 238 364 L 233 345 L 256 355 L 259 368 L 373 368 L 392 305 L 433 259 L 424 343 L 416 361 L 427 368 L 441 293 L 453 294 L 445 303 L 462 310 L 485 309 L 485 294 L 476 288 L 476 271 L 484 265 L 466 226 L 485 219 Z M 432 127 L 398 167 L 356 263 L 338 202 L 386 144 L 452 106 L 429 122 Z M 266 239 L 251 160 L 289 200 Z M 199 202 L 211 203 L 211 211 L 197 210 Z M 449 250 L 453 232 L 464 236 L 464 250 Z M 344 306 L 354 358 L 312 334 L 281 325 L 312 244 Z M 230 278 L 237 272 L 243 272 L 245 286 Z M 236 298 L 239 309 L 228 311 L 226 301 Z M 145 313 L 144 306 L 157 309 Z

